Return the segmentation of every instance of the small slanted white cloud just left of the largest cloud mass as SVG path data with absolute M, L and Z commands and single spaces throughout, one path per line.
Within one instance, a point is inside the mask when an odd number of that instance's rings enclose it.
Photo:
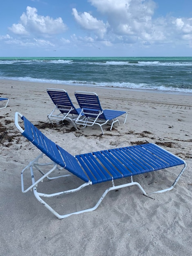
M 94 31 L 95 34 L 100 36 L 100 38 L 103 38 L 107 30 L 107 25 L 103 22 L 103 20 L 97 20 L 87 12 L 81 13 L 79 15 L 76 8 L 72 9 L 72 14 L 74 15 L 75 20 L 83 29 Z

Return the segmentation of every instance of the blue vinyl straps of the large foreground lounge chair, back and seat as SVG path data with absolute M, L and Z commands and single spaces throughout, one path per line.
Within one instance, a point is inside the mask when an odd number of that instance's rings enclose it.
M 96 184 L 185 164 L 179 157 L 150 143 L 101 150 L 74 157 L 48 139 L 24 116 L 21 118 L 25 126 L 22 135 L 56 164 L 66 168 L 85 182 L 91 180 Z

